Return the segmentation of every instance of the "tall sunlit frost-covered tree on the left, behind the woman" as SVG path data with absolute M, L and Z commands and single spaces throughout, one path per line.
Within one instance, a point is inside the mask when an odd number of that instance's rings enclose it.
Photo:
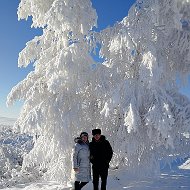
M 18 65 L 33 63 L 34 71 L 8 96 L 8 104 L 24 100 L 15 127 L 35 141 L 22 169 L 66 183 L 74 136 L 91 129 L 96 118 L 95 63 L 89 53 L 96 11 L 89 0 L 21 0 L 18 17 L 29 16 L 43 34 L 26 44 Z

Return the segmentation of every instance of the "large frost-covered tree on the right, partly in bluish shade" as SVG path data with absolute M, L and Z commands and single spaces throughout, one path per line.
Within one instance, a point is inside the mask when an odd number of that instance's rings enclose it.
M 115 163 L 151 171 L 155 161 L 189 154 L 190 102 L 177 81 L 190 73 L 190 2 L 137 0 L 129 15 L 101 32 L 110 78 L 102 114 L 118 115 Z

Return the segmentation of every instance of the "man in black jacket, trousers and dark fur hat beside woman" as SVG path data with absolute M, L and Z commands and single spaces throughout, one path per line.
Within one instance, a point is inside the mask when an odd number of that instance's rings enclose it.
M 109 162 L 113 151 L 105 136 L 101 135 L 100 129 L 92 130 L 92 142 L 90 142 L 90 161 L 93 170 L 94 190 L 98 190 L 99 177 L 101 177 L 101 190 L 106 190 Z

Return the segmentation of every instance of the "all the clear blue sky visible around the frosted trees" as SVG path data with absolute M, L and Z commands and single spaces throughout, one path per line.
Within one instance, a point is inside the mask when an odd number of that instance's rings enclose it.
M 41 30 L 30 27 L 30 19 L 18 21 L 19 2 L 20 0 L 0 0 L 0 117 L 16 118 L 19 115 L 22 103 L 17 102 L 7 108 L 6 97 L 12 87 L 33 69 L 32 65 L 18 68 L 19 52 L 25 47 L 26 42 L 41 34 Z M 98 14 L 98 30 L 121 21 L 134 2 L 135 0 L 92 0 Z M 190 97 L 188 87 L 182 91 Z

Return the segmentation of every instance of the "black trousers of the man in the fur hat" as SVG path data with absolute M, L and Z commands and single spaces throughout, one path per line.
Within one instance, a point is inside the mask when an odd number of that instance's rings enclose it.
M 92 166 L 94 190 L 98 190 L 99 178 L 101 178 L 101 190 L 106 190 L 108 167 Z

